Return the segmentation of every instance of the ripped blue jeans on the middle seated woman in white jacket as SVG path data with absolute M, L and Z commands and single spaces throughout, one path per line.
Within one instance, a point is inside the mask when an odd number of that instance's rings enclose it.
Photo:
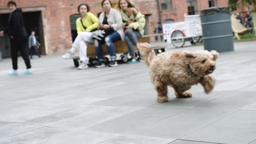
M 106 46 L 111 59 L 116 58 L 114 43 L 120 40 L 121 40 L 121 36 L 116 31 L 105 38 Z M 99 61 L 103 61 L 102 45 L 96 40 L 94 42 L 94 47 L 97 52 L 97 57 Z

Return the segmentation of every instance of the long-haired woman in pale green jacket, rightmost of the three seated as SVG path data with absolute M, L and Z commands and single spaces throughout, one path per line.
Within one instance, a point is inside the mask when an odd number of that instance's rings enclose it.
M 118 9 L 123 19 L 125 41 L 132 57 L 127 63 L 136 63 L 138 60 L 135 57 L 134 45 L 138 43 L 137 38 L 144 35 L 144 27 L 146 25 L 145 15 L 141 14 L 129 0 L 119 0 Z

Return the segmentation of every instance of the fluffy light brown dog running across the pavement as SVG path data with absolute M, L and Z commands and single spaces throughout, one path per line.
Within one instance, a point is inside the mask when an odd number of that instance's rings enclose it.
M 210 93 L 215 84 L 215 78 L 210 76 L 216 68 L 216 51 L 177 51 L 164 52 L 155 55 L 148 43 L 137 45 L 141 62 L 149 67 L 151 82 L 157 91 L 157 102 L 166 102 L 167 86 L 171 85 L 177 98 L 190 98 L 186 92 L 191 85 L 200 83 L 205 93 Z

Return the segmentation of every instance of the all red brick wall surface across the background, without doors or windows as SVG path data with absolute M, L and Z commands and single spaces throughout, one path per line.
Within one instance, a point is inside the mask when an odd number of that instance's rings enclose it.
M 9 0 L 0 1 L 0 9 L 6 9 Z M 78 0 L 16 0 L 18 7 L 45 7 L 43 14 L 43 29 L 47 43 L 47 54 L 63 53 L 71 47 L 70 20 L 71 14 L 77 13 L 77 5 L 81 3 Z M 86 0 L 85 3 L 92 6 L 100 0 Z M 149 34 L 153 34 L 154 27 L 158 22 L 158 9 L 155 0 L 137 0 L 134 1 L 139 9 L 145 9 L 150 12 Z M 227 6 L 228 0 L 218 0 L 218 6 Z M 197 0 L 197 9 L 203 10 L 209 7 L 206 0 Z M 101 11 L 101 5 L 92 6 L 91 12 L 95 15 Z M 172 0 L 172 10 L 162 12 L 162 20 L 173 19 L 174 22 L 183 21 L 184 13 L 188 12 L 187 0 Z

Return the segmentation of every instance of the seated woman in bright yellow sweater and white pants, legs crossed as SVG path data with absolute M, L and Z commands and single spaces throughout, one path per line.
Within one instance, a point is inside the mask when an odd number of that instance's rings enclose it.
M 72 48 L 68 53 L 62 55 L 63 59 L 71 59 L 76 50 L 79 48 L 79 59 L 82 61 L 78 69 L 88 68 L 88 58 L 87 58 L 87 44 L 94 43 L 94 39 L 92 39 L 93 30 L 99 27 L 98 18 L 89 12 L 90 7 L 87 4 L 80 4 L 77 7 L 79 14 L 81 14 L 81 18 L 76 20 L 76 29 L 77 29 L 77 37 L 72 45 Z

